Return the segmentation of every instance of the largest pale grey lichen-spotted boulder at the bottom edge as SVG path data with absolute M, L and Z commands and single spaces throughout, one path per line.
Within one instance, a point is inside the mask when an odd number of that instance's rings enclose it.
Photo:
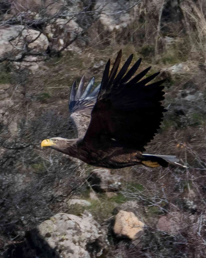
M 107 249 L 106 233 L 88 212 L 84 212 L 81 217 L 58 213 L 42 222 L 38 229 L 61 257 L 99 257 Z

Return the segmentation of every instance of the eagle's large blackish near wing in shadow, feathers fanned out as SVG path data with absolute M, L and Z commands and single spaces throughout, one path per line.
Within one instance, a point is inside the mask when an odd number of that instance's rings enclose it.
M 110 60 L 106 64 L 91 122 L 83 139 L 96 148 L 122 146 L 144 151 L 144 146 L 154 138 L 163 121 L 163 112 L 167 110 L 161 105 L 165 92 L 164 86 L 160 85 L 164 80 L 148 84 L 159 73 L 142 79 L 151 67 L 133 77 L 141 59 L 127 72 L 132 58 L 133 55 L 118 74 L 121 50 L 110 74 Z

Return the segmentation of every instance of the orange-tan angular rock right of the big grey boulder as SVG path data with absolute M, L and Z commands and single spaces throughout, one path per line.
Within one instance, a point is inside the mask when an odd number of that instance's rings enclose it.
M 145 224 L 133 212 L 120 210 L 115 216 L 113 231 L 118 238 L 134 240 L 144 231 Z

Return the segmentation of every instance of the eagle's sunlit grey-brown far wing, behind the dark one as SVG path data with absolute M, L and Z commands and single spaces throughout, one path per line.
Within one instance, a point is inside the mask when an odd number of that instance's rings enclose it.
M 91 120 L 91 111 L 96 102 L 96 98 L 100 89 L 99 84 L 93 91 L 94 77 L 89 81 L 84 89 L 85 76 L 81 78 L 79 86 L 76 90 L 77 83 L 73 82 L 70 90 L 69 111 L 70 118 L 77 129 L 78 138 L 84 137 Z

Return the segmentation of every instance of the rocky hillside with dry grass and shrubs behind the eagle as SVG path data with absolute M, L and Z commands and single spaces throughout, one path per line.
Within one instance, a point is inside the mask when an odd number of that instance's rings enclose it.
M 205 42 L 201 0 L 0 1 L 2 257 L 206 257 Z M 166 79 L 146 152 L 187 169 L 107 170 L 41 150 L 75 137 L 73 80 L 98 85 L 119 49 Z

